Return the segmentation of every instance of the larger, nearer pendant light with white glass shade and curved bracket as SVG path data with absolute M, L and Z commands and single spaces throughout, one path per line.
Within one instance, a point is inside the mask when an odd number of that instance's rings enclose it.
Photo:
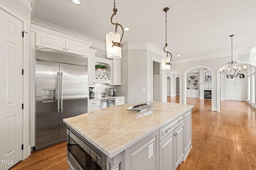
M 121 58 L 122 57 L 121 48 L 123 46 L 123 44 L 121 44 L 121 41 L 122 41 L 122 38 L 123 38 L 123 35 L 124 35 L 124 28 L 119 23 L 113 23 L 112 22 L 113 16 L 116 15 L 116 13 L 117 13 L 115 0 L 114 0 L 113 12 L 114 13 L 111 16 L 110 21 L 113 25 L 116 25 L 116 29 L 115 29 L 115 32 L 106 33 L 107 57 L 108 58 Z M 122 37 L 121 37 L 121 39 L 120 39 L 120 34 L 116 32 L 118 25 L 122 28 Z

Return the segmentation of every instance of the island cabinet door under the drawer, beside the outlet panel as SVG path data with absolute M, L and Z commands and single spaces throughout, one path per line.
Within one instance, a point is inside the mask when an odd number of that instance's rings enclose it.
M 159 170 L 174 170 L 174 132 L 159 143 Z

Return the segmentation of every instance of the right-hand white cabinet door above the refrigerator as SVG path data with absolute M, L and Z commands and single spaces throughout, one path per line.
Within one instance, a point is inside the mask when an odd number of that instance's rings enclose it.
M 88 56 L 89 47 L 81 43 L 66 40 L 66 52 Z

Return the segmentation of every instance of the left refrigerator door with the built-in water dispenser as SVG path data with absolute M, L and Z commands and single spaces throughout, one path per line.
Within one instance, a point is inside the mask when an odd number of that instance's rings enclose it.
M 36 148 L 59 140 L 57 72 L 58 63 L 36 61 Z

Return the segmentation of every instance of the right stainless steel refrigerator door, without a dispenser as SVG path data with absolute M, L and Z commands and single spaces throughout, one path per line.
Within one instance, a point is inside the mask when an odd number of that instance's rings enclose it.
M 88 75 L 86 66 L 72 64 L 60 64 L 60 72 L 62 72 L 60 140 L 65 140 L 67 126 L 63 119 L 87 113 Z

